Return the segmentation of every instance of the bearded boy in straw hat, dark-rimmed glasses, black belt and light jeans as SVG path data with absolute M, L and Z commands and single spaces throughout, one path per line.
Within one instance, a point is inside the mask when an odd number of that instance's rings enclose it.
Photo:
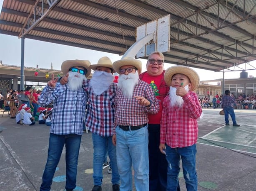
M 136 190 L 148 191 L 148 113 L 156 114 L 159 103 L 151 86 L 139 79 L 141 61 L 125 58 L 115 61 L 113 68 L 120 74 L 115 97 L 116 135 L 113 135 L 120 191 L 133 190 L 131 166 Z

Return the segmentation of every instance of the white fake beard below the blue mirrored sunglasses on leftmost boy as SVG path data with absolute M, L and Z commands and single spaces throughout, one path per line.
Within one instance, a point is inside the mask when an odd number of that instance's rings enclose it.
M 75 77 L 77 75 L 79 77 Z M 85 75 L 70 71 L 67 83 L 68 89 L 72 91 L 78 91 L 80 88 L 82 88 L 84 80 L 86 80 Z

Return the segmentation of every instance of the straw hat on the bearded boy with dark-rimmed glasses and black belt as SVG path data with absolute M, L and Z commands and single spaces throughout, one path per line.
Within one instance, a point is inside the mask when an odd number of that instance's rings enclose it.
M 115 61 L 113 63 L 113 68 L 114 70 L 120 74 L 120 71 L 119 69 L 122 67 L 122 66 L 127 66 L 127 65 L 131 65 L 131 66 L 134 66 L 136 67 L 136 69 L 138 69 L 138 73 L 140 74 L 141 73 L 141 68 L 142 68 L 142 64 L 141 64 L 141 61 L 139 60 L 136 60 L 134 58 L 131 58 L 131 57 L 125 57 L 121 60 L 118 60 L 118 61 Z

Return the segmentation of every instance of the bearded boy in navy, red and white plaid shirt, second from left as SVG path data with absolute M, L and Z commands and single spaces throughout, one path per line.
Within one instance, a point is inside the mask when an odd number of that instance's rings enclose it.
M 102 164 L 106 152 L 112 168 L 112 189 L 119 191 L 119 174 L 116 163 L 116 148 L 112 143 L 115 115 L 115 93 L 117 86 L 113 83 L 112 62 L 108 57 L 99 59 L 98 64 L 90 65 L 95 70 L 85 88 L 88 93 L 88 107 L 85 125 L 92 132 L 93 139 L 93 182 L 92 191 L 101 191 L 103 179 Z M 105 149 L 105 148 L 108 149 Z

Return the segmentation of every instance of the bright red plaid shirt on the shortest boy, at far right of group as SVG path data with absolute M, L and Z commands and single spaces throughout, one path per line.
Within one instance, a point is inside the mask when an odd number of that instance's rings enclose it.
M 170 98 L 163 100 L 163 112 L 160 127 L 160 143 L 171 148 L 188 147 L 196 143 L 198 124 L 196 119 L 202 113 L 196 93 L 189 91 L 183 96 L 182 108 L 171 108 Z

